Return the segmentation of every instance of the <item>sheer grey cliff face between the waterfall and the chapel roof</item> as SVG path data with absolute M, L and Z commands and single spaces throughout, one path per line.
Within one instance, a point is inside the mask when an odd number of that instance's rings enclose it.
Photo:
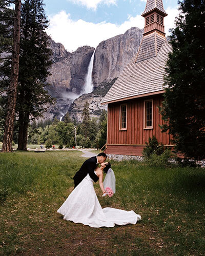
M 118 77 L 137 53 L 143 30 L 131 28 L 125 34 L 117 35 L 101 42 L 95 52 L 93 65 L 93 84 L 110 81 Z

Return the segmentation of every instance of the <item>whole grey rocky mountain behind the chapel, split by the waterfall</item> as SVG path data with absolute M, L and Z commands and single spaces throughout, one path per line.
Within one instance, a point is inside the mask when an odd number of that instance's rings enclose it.
M 69 111 L 71 117 L 80 121 L 81 110 L 86 101 L 90 103 L 91 116 L 98 116 L 101 109 L 106 108 L 100 105 L 101 99 L 138 51 L 142 33 L 141 29 L 131 28 L 125 34 L 101 42 L 96 50 L 90 46 L 83 46 L 74 52 L 66 51 L 62 44 L 51 40 L 53 64 L 50 68 L 51 75 L 47 80 L 50 86 L 46 89 L 56 98 L 56 104 L 49 109 L 46 118 L 53 119 L 57 116 L 60 119 Z M 94 90 L 86 93 L 86 75 L 94 50 L 92 70 Z

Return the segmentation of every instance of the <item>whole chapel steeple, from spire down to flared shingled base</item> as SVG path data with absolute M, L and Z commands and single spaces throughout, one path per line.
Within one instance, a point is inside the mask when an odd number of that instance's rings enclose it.
M 145 30 L 135 63 L 156 57 L 162 44 L 167 41 L 163 20 L 168 14 L 163 8 L 163 1 L 147 0 L 145 11 L 141 15 L 145 17 Z

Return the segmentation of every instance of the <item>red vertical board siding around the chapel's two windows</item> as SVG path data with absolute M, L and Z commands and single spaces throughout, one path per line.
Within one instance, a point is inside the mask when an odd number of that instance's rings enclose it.
M 119 130 L 119 105 L 109 104 L 108 121 L 108 145 L 145 145 L 149 137 L 156 136 L 158 142 L 171 145 L 170 135 L 161 132 L 159 124 L 162 124 L 159 106 L 162 103 L 162 95 L 152 96 L 153 100 L 153 128 L 144 129 L 144 100 L 143 98 L 127 102 L 127 130 Z M 149 100 L 149 99 L 148 99 Z M 110 146 L 108 146 L 110 147 Z M 117 153 L 116 153 L 117 154 Z

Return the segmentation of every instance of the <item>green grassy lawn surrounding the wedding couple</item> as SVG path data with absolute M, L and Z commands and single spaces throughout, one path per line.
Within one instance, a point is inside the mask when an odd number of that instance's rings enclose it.
M 56 213 L 85 161 L 81 154 L 0 154 L 1 255 L 204 255 L 204 169 L 111 162 L 116 194 L 102 198 L 95 184 L 100 204 L 134 210 L 142 220 L 91 228 L 64 221 Z

